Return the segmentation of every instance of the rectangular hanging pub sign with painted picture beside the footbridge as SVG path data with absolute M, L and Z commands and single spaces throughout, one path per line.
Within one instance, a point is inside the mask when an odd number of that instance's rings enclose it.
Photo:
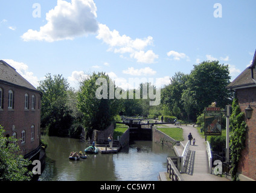
M 219 107 L 205 108 L 205 136 L 222 135 L 222 112 Z

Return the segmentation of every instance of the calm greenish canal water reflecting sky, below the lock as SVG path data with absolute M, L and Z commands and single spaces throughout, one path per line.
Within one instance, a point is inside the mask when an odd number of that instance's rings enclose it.
M 78 139 L 42 137 L 48 142 L 45 169 L 40 181 L 156 181 L 166 171 L 173 148 L 152 141 L 134 141 L 115 154 L 88 154 L 87 159 L 69 160 L 71 151 L 88 145 Z

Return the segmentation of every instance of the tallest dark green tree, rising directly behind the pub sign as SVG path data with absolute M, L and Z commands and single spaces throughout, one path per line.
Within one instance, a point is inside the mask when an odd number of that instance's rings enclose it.
M 194 65 L 186 82 L 188 93 L 193 101 L 194 120 L 205 107 L 216 102 L 218 107 L 225 108 L 231 101 L 231 92 L 226 89 L 230 80 L 228 65 L 220 65 L 219 61 L 206 61 Z

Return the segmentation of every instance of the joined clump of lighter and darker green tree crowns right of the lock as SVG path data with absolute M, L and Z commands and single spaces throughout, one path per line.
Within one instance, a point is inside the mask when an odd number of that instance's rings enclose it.
M 168 106 L 171 115 L 186 121 L 196 121 L 205 107 L 216 102 L 224 108 L 229 103 L 231 93 L 226 89 L 229 84 L 228 65 L 219 61 L 206 61 L 194 65 L 190 74 L 178 72 L 171 83 L 161 92 L 161 102 Z

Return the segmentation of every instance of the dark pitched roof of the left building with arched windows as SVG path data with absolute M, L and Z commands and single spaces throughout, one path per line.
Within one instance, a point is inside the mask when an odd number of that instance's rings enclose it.
M 32 84 L 30 84 L 24 77 L 22 77 L 16 69 L 8 65 L 4 60 L 0 60 L 0 81 L 9 84 L 15 84 L 16 86 L 25 87 L 31 90 L 37 90 Z

